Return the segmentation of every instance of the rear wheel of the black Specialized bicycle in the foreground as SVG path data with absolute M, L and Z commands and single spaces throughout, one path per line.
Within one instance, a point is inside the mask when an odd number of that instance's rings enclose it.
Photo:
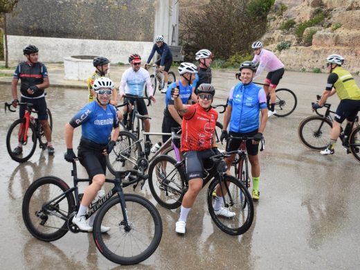
M 51 242 L 67 233 L 67 222 L 76 206 L 72 192 L 62 195 L 66 190 L 69 190 L 67 183 L 57 177 L 39 178 L 28 187 L 22 203 L 22 217 L 31 235 Z M 48 201 L 58 196 L 56 201 L 46 206 Z M 53 213 L 62 215 L 62 218 Z

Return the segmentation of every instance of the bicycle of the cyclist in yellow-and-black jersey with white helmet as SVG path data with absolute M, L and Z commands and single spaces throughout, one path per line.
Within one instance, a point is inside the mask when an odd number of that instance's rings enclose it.
M 321 97 L 317 96 L 319 100 Z M 318 109 L 315 109 L 317 116 L 309 116 L 305 118 L 298 126 L 298 137 L 311 150 L 324 150 L 330 141 L 330 132 L 332 131 L 332 116 L 336 111 L 330 109 L 331 104 L 325 103 L 323 107 L 326 108 L 325 114 L 320 114 Z M 360 124 L 359 116 L 356 117 L 351 127 L 352 132 L 345 141 L 345 134 L 343 127 L 341 127 L 340 140 L 346 148 L 347 153 L 354 156 L 360 162 Z

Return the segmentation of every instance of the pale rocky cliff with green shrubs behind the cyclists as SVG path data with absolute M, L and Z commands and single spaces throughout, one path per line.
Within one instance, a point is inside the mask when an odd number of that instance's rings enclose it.
M 325 71 L 327 55 L 339 53 L 359 75 L 360 0 L 276 0 L 268 21 L 262 41 L 287 69 Z

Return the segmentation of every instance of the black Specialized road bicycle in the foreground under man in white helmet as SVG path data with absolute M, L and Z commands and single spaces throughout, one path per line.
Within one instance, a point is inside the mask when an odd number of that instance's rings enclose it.
M 68 231 L 80 232 L 72 222 L 82 198 L 78 183 L 91 179 L 78 178 L 75 160 L 71 175 L 73 188 L 62 179 L 49 176 L 35 180 L 26 190 L 22 216 L 26 228 L 38 240 L 51 242 Z M 134 184 L 136 188 L 139 182 L 142 188 L 146 179 L 147 175 L 135 170 L 116 172 L 115 179 L 106 179 L 114 188 L 89 206 L 87 219 L 98 212 L 93 224 L 93 240 L 100 253 L 111 262 L 137 264 L 149 258 L 159 246 L 163 232 L 159 211 L 144 197 L 123 192 L 123 187 Z M 110 226 L 111 232 L 101 233 L 102 224 Z

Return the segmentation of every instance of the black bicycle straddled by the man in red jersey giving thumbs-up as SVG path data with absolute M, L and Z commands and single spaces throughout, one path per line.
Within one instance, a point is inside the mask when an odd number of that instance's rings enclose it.
M 244 184 L 235 177 L 222 172 L 222 161 L 224 156 L 240 153 L 236 150 L 233 152 L 224 152 L 210 157 L 213 165 L 211 168 L 204 169 L 203 187 L 208 182 L 210 185 L 207 190 L 208 211 L 213 222 L 224 233 L 229 235 L 241 235 L 245 233 L 253 222 L 253 200 L 249 190 Z M 175 209 L 181 206 L 183 195 L 188 190 L 188 181 L 185 176 L 185 160 L 180 162 L 171 156 L 160 155 L 150 164 L 149 167 L 149 187 L 154 199 L 164 208 Z M 226 183 L 226 190 L 221 188 L 224 199 L 224 208 L 235 212 L 235 217 L 231 219 L 215 215 L 213 208 L 213 190 L 217 184 Z

